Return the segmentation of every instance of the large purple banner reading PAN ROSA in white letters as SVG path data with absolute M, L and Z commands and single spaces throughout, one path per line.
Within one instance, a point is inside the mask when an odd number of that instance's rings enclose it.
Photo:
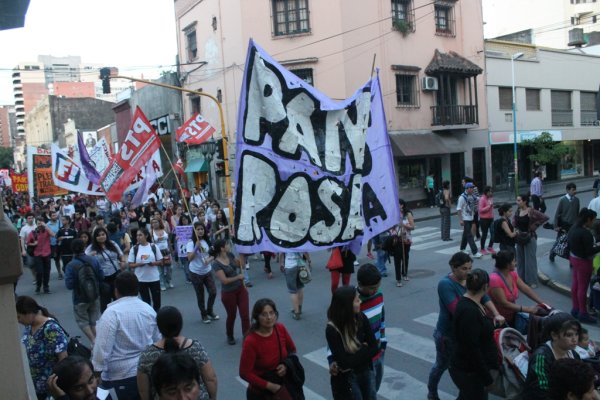
M 251 40 L 236 144 L 240 253 L 358 251 L 400 220 L 378 77 L 336 102 Z

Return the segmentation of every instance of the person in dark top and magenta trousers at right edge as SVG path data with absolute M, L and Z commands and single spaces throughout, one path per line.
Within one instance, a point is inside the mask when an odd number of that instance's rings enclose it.
M 579 211 L 577 221 L 567 236 L 569 243 L 569 263 L 571 264 L 571 314 L 583 323 L 596 323 L 587 310 L 586 295 L 592 277 L 592 259 L 600 252 L 590 229 L 596 221 L 596 212 L 587 208 Z

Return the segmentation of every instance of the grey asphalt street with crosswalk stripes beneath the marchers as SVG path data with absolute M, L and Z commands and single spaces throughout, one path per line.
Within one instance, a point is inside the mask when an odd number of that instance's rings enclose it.
M 580 196 L 581 205 L 587 206 L 591 194 Z M 557 199 L 547 201 L 548 215 L 554 215 Z M 554 233 L 549 230 L 538 231 L 538 260 L 547 263 L 548 251 L 554 241 Z M 384 278 L 381 288 L 385 297 L 388 350 L 385 355 L 384 381 L 379 391 L 380 399 L 425 399 L 426 384 L 431 365 L 435 359 L 435 346 L 432 339 L 433 326 L 437 320 L 438 296 L 437 282 L 449 272 L 448 259 L 458 251 L 461 230 L 458 220 L 452 217 L 452 234 L 450 242 L 440 240 L 440 221 L 431 219 L 417 223 L 413 233 L 413 246 L 410 253 L 410 282 L 402 288 L 395 286 L 392 266 L 388 264 L 390 276 Z M 250 275 L 254 287 L 250 288 L 250 307 L 262 297 L 272 298 L 279 308 L 280 322 L 290 331 L 294 339 L 301 361 L 306 370 L 305 393 L 307 399 L 328 399 L 331 397 L 329 376 L 325 359 L 325 326 L 326 310 L 330 301 L 330 278 L 325 269 L 327 252 L 313 254 L 313 281 L 305 289 L 305 300 L 302 319 L 292 319 L 291 303 L 285 287 L 283 275 L 277 263 L 273 263 L 274 278 L 268 280 L 263 272 L 262 260 L 251 258 Z M 369 262 L 366 257 L 366 246 L 359 256 L 361 263 Z M 490 256 L 474 261 L 475 267 L 491 271 L 493 260 Z M 567 262 L 557 258 L 553 268 L 568 268 Z M 71 305 L 71 294 L 64 287 L 64 281 L 57 279 L 53 267 L 50 289 L 51 294 L 34 295 L 32 277 L 28 271 L 21 278 L 17 287 L 18 294 L 35 296 L 48 307 L 69 330 L 71 334 L 81 334 L 77 328 Z M 238 344 L 230 346 L 225 337 L 225 311 L 217 298 L 216 312 L 221 320 L 205 325 L 201 322 L 196 306 L 196 298 L 191 285 L 184 282 L 184 274 L 180 268 L 174 270 L 175 288 L 162 292 L 163 305 L 178 307 L 184 315 L 184 335 L 199 339 L 206 347 L 219 380 L 219 398 L 245 398 L 245 384 L 238 376 L 239 356 L 241 351 L 241 334 L 239 320 L 236 324 Z M 353 276 L 352 282 L 355 283 Z M 540 285 L 537 289 L 545 302 L 556 308 L 569 310 L 570 299 L 563 294 Z M 531 304 L 527 298 L 519 302 Z M 600 329 L 590 327 L 592 338 L 600 339 Z M 456 388 L 448 374 L 440 384 L 442 399 L 455 398 Z

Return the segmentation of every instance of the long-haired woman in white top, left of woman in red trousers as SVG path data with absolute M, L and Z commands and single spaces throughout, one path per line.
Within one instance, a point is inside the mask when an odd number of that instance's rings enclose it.
M 196 291 L 196 300 L 202 322 L 210 324 L 216 321 L 219 316 L 214 312 L 215 299 L 217 298 L 217 287 L 211 268 L 214 257 L 208 252 L 210 250 L 210 239 L 206 228 L 200 222 L 194 222 L 194 234 L 192 240 L 188 242 L 186 252 L 187 259 L 190 262 L 190 279 L 194 290 Z M 208 302 L 205 303 L 204 288 L 208 291 Z

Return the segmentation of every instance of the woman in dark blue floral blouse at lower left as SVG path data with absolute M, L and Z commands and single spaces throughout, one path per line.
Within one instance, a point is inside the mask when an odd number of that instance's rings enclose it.
M 38 400 L 45 400 L 49 394 L 46 383 L 52 368 L 67 357 L 68 338 L 53 315 L 33 298 L 17 297 L 16 308 L 17 320 L 25 326 L 21 342 L 29 360 L 35 393 Z

